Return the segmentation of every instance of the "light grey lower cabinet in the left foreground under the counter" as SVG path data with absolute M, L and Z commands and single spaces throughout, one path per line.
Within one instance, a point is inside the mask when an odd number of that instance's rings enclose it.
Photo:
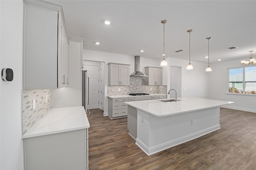
M 23 141 L 25 170 L 88 169 L 88 128 Z

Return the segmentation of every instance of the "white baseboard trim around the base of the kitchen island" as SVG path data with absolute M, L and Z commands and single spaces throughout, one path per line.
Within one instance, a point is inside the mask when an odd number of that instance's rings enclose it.
M 171 148 L 173 146 L 177 146 L 179 144 L 188 142 L 190 140 L 193 140 L 195 138 L 198 138 L 200 136 L 203 136 L 205 134 L 208 134 L 208 133 L 213 132 L 213 131 L 218 130 L 218 129 L 220 129 L 220 124 L 215 125 L 215 126 L 210 127 L 210 128 L 206 128 L 204 130 L 200 130 L 198 132 L 195 132 L 195 133 L 192 133 L 192 134 L 189 134 L 189 135 L 186 135 L 186 136 L 183 136 L 181 138 L 166 142 L 164 144 L 160 144 L 160 145 L 157 145 L 157 146 L 154 146 L 154 147 L 150 147 L 150 148 L 148 148 L 138 138 L 136 138 L 136 143 L 135 144 L 137 146 L 139 146 L 148 156 L 150 156 L 150 155 L 155 154 L 157 152 L 160 152 L 162 150 L 166 150 L 166 149 Z

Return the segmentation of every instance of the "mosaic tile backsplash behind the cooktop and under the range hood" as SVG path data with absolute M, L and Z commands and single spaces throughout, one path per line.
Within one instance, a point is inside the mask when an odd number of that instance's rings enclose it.
M 118 91 L 120 88 L 120 91 Z M 152 88 L 152 90 L 150 89 Z M 130 77 L 130 85 L 108 86 L 108 95 L 128 95 L 129 93 L 167 93 L 166 85 L 144 85 L 142 77 Z

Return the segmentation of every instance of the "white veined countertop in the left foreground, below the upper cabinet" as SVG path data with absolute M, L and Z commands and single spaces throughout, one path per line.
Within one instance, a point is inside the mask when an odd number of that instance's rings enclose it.
M 43 136 L 89 128 L 84 107 L 62 107 L 50 109 L 35 125 L 22 135 L 22 138 Z

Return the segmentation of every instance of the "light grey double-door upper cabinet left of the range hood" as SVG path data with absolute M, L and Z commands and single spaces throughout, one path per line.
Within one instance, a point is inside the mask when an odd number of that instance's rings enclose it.
M 130 65 L 108 63 L 108 85 L 130 85 Z

